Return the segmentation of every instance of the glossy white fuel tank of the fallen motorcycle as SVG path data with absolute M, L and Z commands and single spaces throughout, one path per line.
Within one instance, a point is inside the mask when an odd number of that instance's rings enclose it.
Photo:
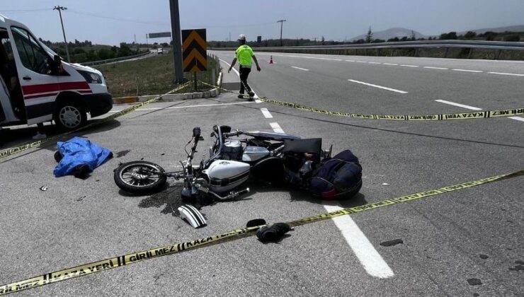
M 226 192 L 249 178 L 249 167 L 249 164 L 238 161 L 217 160 L 203 173 L 209 177 L 212 191 Z

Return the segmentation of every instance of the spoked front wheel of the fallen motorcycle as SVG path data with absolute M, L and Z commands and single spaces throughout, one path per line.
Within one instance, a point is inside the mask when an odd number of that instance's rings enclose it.
M 164 168 L 147 161 L 123 163 L 115 169 L 115 184 L 125 192 L 149 194 L 158 192 L 166 185 Z

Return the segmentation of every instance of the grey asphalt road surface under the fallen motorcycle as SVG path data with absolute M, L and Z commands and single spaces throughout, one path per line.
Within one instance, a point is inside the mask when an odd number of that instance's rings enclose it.
M 214 54 L 232 60 L 231 52 Z M 257 57 L 262 71 L 249 82 L 259 97 L 329 110 L 433 114 L 524 105 L 524 76 L 516 75 L 524 74 L 522 62 L 275 53 L 275 64 L 268 64 L 266 53 Z M 237 81 L 234 71 L 224 75 L 227 88 L 238 89 Z M 302 192 L 250 184 L 253 191 L 239 202 L 203 206 L 209 226 L 193 229 L 172 214 L 181 204 L 175 182 L 145 197 L 118 190 L 113 169 L 121 162 L 144 158 L 177 170 L 195 126 L 280 128 L 323 137 L 335 152 L 350 148 L 363 165 L 363 188 L 341 202 L 345 207 L 523 169 L 524 122 L 518 119 L 355 120 L 246 103 L 227 93 L 148 105 L 83 134 L 115 154 L 86 180 L 53 177 L 52 147 L 0 163 L 0 283 L 203 238 L 250 219 L 290 221 L 334 207 Z M 9 143 L 29 132 L 9 133 Z M 48 190 L 40 191 L 42 185 Z M 523 190 L 523 177 L 516 177 L 300 226 L 279 244 L 244 238 L 20 295 L 524 296 Z M 403 243 L 381 245 L 397 239 Z

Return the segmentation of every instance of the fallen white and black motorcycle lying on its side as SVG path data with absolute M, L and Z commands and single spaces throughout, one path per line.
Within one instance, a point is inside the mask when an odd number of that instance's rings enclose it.
M 173 177 L 183 180 L 182 197 L 204 195 L 218 200 L 235 199 L 249 192 L 249 188 L 238 188 L 250 176 L 307 189 L 324 199 L 351 197 L 362 185 L 362 168 L 351 151 L 331 158 L 331 148 L 322 150 L 321 139 L 274 132 L 232 132 L 229 126 L 213 127 L 210 158 L 193 165 L 196 148 L 203 140 L 200 134 L 200 128 L 195 127 L 186 144 L 192 146 L 190 152 L 186 151 L 186 162 L 181 162 L 183 170 L 166 172 L 147 161 L 123 163 L 114 172 L 116 185 L 132 194 L 149 194 L 161 190 L 167 177 Z

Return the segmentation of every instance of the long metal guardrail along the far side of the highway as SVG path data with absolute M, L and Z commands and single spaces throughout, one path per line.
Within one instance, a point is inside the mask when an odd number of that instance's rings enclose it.
M 501 50 L 524 50 L 524 42 L 503 42 L 503 41 L 484 41 L 484 40 L 423 40 L 423 41 L 398 41 L 380 43 L 352 43 L 345 45 L 308 45 L 297 47 L 254 47 L 258 52 L 279 52 L 279 51 L 315 51 L 315 50 L 378 50 L 395 48 L 446 48 L 460 47 L 485 50 L 499 50 L 496 55 L 498 59 Z M 236 50 L 234 47 L 209 47 L 209 50 Z M 447 52 L 447 51 L 446 51 Z M 447 53 L 446 53 L 447 56 Z

